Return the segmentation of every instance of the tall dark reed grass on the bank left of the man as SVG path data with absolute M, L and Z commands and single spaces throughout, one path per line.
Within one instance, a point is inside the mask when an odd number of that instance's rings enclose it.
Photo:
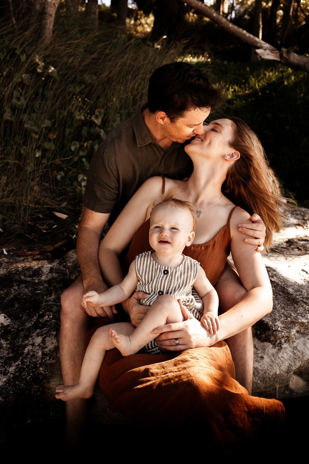
M 59 31 L 48 46 L 34 33 L 1 31 L 0 202 L 10 221 L 66 195 L 80 202 L 98 145 L 146 99 L 151 72 L 179 54 L 108 28 Z

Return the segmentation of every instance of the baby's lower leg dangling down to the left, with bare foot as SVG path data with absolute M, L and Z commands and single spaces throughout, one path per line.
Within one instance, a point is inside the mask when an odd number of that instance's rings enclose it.
M 134 327 L 129 322 L 106 325 L 97 329 L 91 337 L 82 361 L 78 383 L 75 385 L 58 385 L 55 395 L 58 400 L 69 401 L 74 398 L 90 398 L 93 395 L 95 382 L 105 354 L 107 350 L 114 348 L 114 345 L 109 342 L 108 329 L 110 328 L 120 330 L 126 335 L 131 334 L 134 330 Z

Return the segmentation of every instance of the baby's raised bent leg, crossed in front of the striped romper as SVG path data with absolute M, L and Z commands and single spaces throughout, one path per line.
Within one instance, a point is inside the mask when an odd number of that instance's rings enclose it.
M 151 330 L 160 325 L 181 321 L 183 321 L 183 313 L 176 298 L 171 295 L 158 296 L 142 322 L 131 334 L 117 333 L 114 327 L 109 326 L 109 341 L 119 349 L 123 356 L 127 356 L 137 353 L 140 348 L 153 340 Z

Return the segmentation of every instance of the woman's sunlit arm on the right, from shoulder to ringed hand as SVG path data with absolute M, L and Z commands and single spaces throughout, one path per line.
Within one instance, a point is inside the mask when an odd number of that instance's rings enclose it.
M 271 312 L 271 284 L 262 257 L 254 245 L 244 243 L 243 235 L 238 232 L 238 224 L 249 223 L 249 217 L 250 215 L 245 211 L 236 209 L 231 219 L 232 257 L 242 284 L 247 290 L 246 295 L 240 303 L 219 316 L 221 327 L 217 334 L 209 334 L 182 308 L 186 321 L 168 324 L 152 331 L 155 335 L 169 332 L 158 337 L 158 342 L 164 348 L 176 350 L 175 338 L 182 338 L 181 344 L 186 345 L 186 348 L 212 346 L 251 327 L 261 317 Z

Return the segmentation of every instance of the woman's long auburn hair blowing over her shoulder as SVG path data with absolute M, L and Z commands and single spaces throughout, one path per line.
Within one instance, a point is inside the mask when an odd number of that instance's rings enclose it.
M 240 118 L 228 119 L 232 121 L 229 146 L 240 152 L 240 158 L 228 171 L 222 190 L 235 205 L 259 214 L 266 226 L 264 246 L 269 250 L 273 232 L 279 232 L 288 205 L 257 135 Z

